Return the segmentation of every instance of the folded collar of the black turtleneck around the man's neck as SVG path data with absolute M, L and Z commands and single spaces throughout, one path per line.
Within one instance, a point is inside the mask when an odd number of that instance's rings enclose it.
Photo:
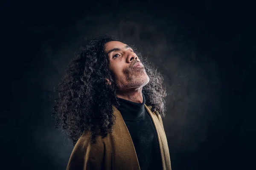
M 138 121 L 145 118 L 145 96 L 143 94 L 142 96 L 142 103 L 135 103 L 129 100 L 117 98 L 120 104 L 118 110 L 124 120 Z

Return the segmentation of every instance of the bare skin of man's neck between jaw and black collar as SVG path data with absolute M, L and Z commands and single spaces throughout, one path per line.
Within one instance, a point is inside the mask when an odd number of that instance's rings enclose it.
M 116 97 L 129 100 L 131 102 L 135 103 L 142 103 L 143 102 L 143 96 L 142 96 L 142 88 L 139 88 L 135 91 L 128 91 L 128 92 L 116 92 Z

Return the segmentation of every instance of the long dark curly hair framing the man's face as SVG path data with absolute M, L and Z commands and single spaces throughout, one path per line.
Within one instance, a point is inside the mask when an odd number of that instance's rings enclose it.
M 90 131 L 92 143 L 95 143 L 97 133 L 104 138 L 112 132 L 115 122 L 112 106 L 118 107 L 119 102 L 116 97 L 116 84 L 104 51 L 104 45 L 109 41 L 119 40 L 103 35 L 83 45 L 79 54 L 71 59 L 64 77 L 54 89 L 54 93 L 58 91 L 52 113 L 57 122 L 56 128 L 61 127 L 62 131 L 66 131 L 73 146 L 84 131 Z M 163 86 L 163 77 L 141 56 L 135 45 L 130 46 L 140 58 L 149 77 L 148 84 L 142 90 L 145 104 L 151 106 L 151 111 L 158 111 L 165 117 L 166 88 Z M 105 83 L 106 78 L 111 85 Z

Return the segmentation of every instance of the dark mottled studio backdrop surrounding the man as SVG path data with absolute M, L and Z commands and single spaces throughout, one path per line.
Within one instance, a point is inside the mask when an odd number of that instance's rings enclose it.
M 163 75 L 173 170 L 255 169 L 256 22 L 249 1 L 9 1 L 1 6 L 1 169 L 63 170 L 72 147 L 51 93 L 97 34 Z

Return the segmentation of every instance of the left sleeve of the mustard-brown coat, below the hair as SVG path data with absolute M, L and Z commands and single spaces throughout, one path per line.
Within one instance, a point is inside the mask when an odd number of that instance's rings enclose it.
M 73 148 L 66 170 L 101 170 L 104 146 L 100 139 L 91 144 L 89 133 L 83 134 Z

